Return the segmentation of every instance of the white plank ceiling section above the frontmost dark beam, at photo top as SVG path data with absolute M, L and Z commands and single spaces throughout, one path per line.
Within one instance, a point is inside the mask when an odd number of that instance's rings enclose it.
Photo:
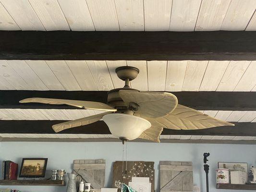
M 256 30 L 255 0 L 0 0 L 0 30 Z

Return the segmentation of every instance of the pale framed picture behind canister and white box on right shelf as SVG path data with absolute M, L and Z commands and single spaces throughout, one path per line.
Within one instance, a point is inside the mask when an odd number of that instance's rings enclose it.
M 236 163 L 236 162 L 219 162 L 219 168 L 227 168 L 229 171 L 242 171 L 246 173 L 246 182 L 248 181 L 248 167 L 247 163 Z

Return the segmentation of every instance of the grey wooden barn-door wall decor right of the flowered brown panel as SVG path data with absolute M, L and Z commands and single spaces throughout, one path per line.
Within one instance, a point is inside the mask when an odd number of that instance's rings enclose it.
M 160 192 L 193 192 L 192 162 L 160 161 Z

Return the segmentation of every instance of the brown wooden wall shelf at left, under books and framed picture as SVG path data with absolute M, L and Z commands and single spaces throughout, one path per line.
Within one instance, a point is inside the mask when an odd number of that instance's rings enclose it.
M 64 180 L 0 180 L 0 185 L 55 185 L 64 186 Z

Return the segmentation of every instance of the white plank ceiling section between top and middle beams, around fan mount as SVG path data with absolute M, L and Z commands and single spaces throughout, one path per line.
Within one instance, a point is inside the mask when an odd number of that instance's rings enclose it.
M 124 86 L 115 69 L 139 68 L 143 91 L 256 91 L 256 61 L 0 60 L 0 90 L 108 91 Z

